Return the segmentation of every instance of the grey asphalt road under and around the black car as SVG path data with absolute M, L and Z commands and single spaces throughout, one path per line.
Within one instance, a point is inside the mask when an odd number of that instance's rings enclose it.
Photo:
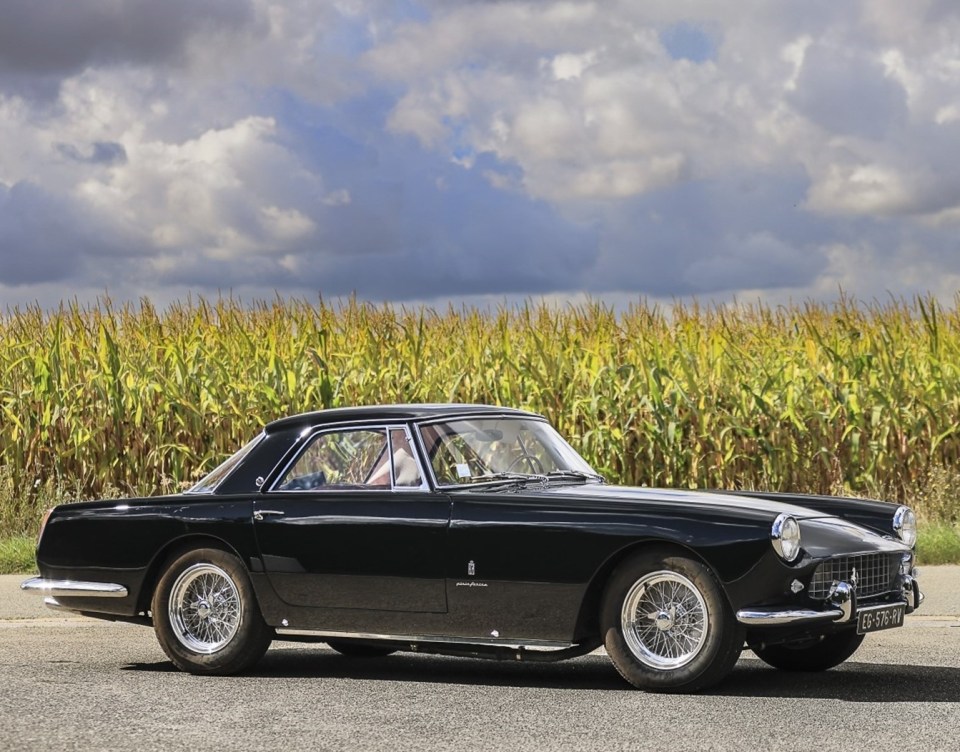
M 198 678 L 145 627 L 64 618 L 0 577 L 0 749 L 960 749 L 960 567 L 929 567 L 907 626 L 843 666 L 745 654 L 709 694 L 629 688 L 602 654 L 510 664 L 351 659 L 277 643 L 244 677 Z

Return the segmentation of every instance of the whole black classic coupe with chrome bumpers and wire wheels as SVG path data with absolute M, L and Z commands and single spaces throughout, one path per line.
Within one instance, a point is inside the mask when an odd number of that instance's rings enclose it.
M 916 518 L 886 502 L 607 484 L 541 416 L 485 405 L 269 423 L 188 491 L 51 510 L 22 587 L 152 625 L 195 674 L 273 640 L 556 661 L 603 646 L 693 692 L 744 649 L 836 666 L 923 599 Z

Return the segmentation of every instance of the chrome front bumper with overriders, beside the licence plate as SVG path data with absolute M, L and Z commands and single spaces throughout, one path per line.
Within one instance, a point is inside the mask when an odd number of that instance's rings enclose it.
M 923 593 L 920 592 L 920 584 L 917 582 L 915 570 L 913 574 L 902 575 L 900 579 L 901 599 L 899 602 L 905 604 L 905 612 L 909 614 L 923 603 Z M 892 602 L 896 603 L 897 600 L 895 599 Z M 759 606 L 737 611 L 737 621 L 746 627 L 755 628 L 856 623 L 860 614 L 880 612 L 888 609 L 890 605 L 891 601 L 869 606 L 858 606 L 856 587 L 849 582 L 837 582 L 831 588 L 830 595 L 825 602 L 826 607 L 822 610 Z

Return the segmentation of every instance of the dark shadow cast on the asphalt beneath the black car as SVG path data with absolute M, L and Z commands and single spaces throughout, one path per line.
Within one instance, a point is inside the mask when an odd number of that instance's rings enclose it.
M 128 671 L 175 671 L 172 663 L 139 663 Z M 540 689 L 632 691 L 601 655 L 561 663 L 508 663 L 398 653 L 350 658 L 325 648 L 271 650 L 249 673 L 267 679 L 356 679 Z M 832 671 L 785 672 L 740 661 L 706 694 L 726 697 L 833 699 L 850 702 L 960 700 L 960 668 L 848 662 Z

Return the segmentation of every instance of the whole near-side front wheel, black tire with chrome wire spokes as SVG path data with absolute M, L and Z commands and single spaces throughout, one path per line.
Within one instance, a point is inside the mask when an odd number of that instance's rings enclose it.
M 600 626 L 617 671 L 648 691 L 710 687 L 730 673 L 743 648 L 743 629 L 713 572 L 668 551 L 641 553 L 617 567 Z

